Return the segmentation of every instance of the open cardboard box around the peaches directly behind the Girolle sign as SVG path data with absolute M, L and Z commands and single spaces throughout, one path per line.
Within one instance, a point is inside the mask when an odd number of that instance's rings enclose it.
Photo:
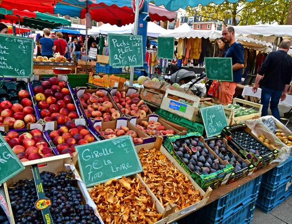
M 152 143 L 155 142 L 155 137 L 154 136 L 149 136 L 147 135 L 145 132 L 141 131 L 140 129 L 138 129 L 137 127 L 135 127 L 134 125 L 132 125 L 129 121 L 128 121 L 128 117 L 119 117 L 114 121 L 109 121 L 109 122 L 103 122 L 102 120 L 93 120 L 92 121 L 92 128 L 91 130 L 93 132 L 95 132 L 96 135 L 100 135 L 100 137 L 102 137 L 103 139 L 106 139 L 104 137 L 104 135 L 101 134 L 101 131 L 97 131 L 95 129 L 95 127 L 100 126 L 102 131 L 105 131 L 106 129 L 120 129 L 121 126 L 125 126 L 128 127 L 129 130 L 135 131 L 137 133 L 137 138 L 143 138 L 143 142 L 142 143 L 135 143 L 135 140 L 133 139 L 133 142 L 135 145 L 140 145 L 140 144 L 148 144 L 148 143 Z

